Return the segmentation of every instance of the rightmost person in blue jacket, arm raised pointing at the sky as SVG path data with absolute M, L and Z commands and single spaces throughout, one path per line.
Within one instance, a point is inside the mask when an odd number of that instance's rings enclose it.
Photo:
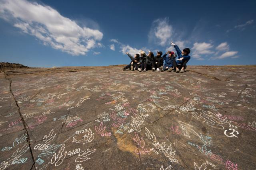
M 174 48 L 177 51 L 178 57 L 176 60 L 173 61 L 172 65 L 176 72 L 184 73 L 184 70 L 186 69 L 186 64 L 190 60 L 190 56 L 188 55 L 190 53 L 189 48 L 185 48 L 182 51 L 180 51 L 179 47 L 171 42 L 171 45 L 174 46 Z

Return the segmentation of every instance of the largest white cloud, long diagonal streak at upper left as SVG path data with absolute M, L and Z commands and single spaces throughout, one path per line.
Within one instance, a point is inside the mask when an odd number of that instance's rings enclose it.
M 0 17 L 44 45 L 71 55 L 85 55 L 103 37 L 99 30 L 80 27 L 50 6 L 27 0 L 1 0 Z

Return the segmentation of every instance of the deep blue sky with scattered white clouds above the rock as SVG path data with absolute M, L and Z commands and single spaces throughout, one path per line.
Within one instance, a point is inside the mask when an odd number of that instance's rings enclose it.
M 126 52 L 191 49 L 191 65 L 256 64 L 256 1 L 0 0 L 0 62 L 128 64 Z

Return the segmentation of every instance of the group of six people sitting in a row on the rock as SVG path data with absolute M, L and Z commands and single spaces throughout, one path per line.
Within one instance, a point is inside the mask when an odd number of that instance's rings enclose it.
M 151 51 L 148 52 L 148 55 L 144 51 L 140 51 L 140 55 L 135 54 L 134 57 L 126 53 L 130 57 L 131 62 L 127 66 L 124 66 L 123 70 L 130 69 L 131 71 L 138 70 L 140 72 L 146 72 L 147 70 L 161 72 L 167 70 L 171 72 L 174 70 L 175 72 L 184 73 L 186 64 L 190 60 L 190 49 L 185 48 L 183 51 L 180 51 L 177 45 L 174 43 L 171 43 L 171 45 L 174 46 L 178 55 L 174 51 L 167 51 L 163 56 L 162 51 L 157 51 L 156 56 Z

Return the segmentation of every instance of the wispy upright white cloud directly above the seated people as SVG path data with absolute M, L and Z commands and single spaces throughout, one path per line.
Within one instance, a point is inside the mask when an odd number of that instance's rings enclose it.
M 156 41 L 155 43 L 165 46 L 166 43 L 169 43 L 168 40 L 170 40 L 172 32 L 169 18 L 155 20 L 148 35 L 149 41 Z

